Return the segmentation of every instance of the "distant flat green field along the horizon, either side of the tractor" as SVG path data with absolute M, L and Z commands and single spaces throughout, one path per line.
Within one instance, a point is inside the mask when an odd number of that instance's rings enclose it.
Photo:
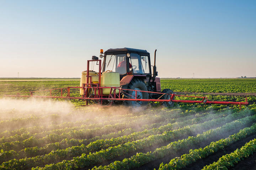
M 79 79 L 50 79 L 51 81 L 47 81 L 49 79 L 43 81 L 37 80 L 39 79 L 34 79 L 34 81 L 13 81 L 13 79 L 10 79 L 10 81 L 1 81 L 0 79 L 0 96 L 16 94 L 17 92 L 80 85 Z M 162 79 L 161 88 L 169 88 L 176 92 L 255 93 L 256 79 Z

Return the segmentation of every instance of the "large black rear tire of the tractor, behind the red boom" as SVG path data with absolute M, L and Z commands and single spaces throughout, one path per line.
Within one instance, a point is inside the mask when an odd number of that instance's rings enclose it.
M 128 89 L 131 89 L 126 91 L 126 93 L 129 95 L 124 95 L 124 98 L 135 98 L 135 91 L 132 90 L 148 91 L 145 83 L 139 79 L 132 79 L 132 81 L 128 84 Z M 137 98 L 148 99 L 148 93 L 137 91 Z M 140 110 L 143 106 L 148 104 L 147 101 L 126 101 L 125 103 L 136 110 Z

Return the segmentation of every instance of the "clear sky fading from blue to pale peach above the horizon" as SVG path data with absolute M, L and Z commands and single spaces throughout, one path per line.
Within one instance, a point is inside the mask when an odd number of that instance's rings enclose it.
M 158 77 L 256 77 L 256 1 L 0 0 L 0 77 L 80 77 L 100 49 L 156 52 Z

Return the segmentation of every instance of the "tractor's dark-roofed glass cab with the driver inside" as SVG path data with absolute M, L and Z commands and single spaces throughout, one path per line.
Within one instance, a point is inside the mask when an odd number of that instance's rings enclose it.
M 108 49 L 104 53 L 103 70 L 118 72 L 120 80 L 126 75 L 151 77 L 150 55 L 146 50 Z

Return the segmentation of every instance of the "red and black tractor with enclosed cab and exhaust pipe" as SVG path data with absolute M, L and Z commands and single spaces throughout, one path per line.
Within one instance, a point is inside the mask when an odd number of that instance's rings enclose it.
M 161 91 L 160 78 L 156 77 L 158 72 L 156 71 L 156 50 L 154 56 L 154 66 L 151 66 L 150 53 L 146 50 L 121 48 L 121 49 L 108 49 L 103 53 L 101 51 L 100 58 L 103 58 L 102 74 L 112 73 L 114 75 L 114 81 L 108 83 L 108 86 L 119 86 L 121 90 L 122 98 L 136 98 L 145 99 L 145 101 L 138 100 L 123 100 L 114 101 L 116 104 L 126 104 L 132 108 L 139 109 L 142 106 L 148 104 L 148 99 L 167 99 L 170 98 L 170 94 L 173 91 L 170 89 L 164 89 Z M 92 61 L 98 61 L 98 57 L 92 56 Z M 153 69 L 152 69 L 153 68 Z M 84 74 L 84 79 L 83 79 Z M 87 71 L 82 72 L 81 83 L 86 83 L 85 76 Z M 92 79 L 97 80 L 98 73 L 93 70 L 89 70 L 89 76 Z M 116 80 L 118 77 L 118 80 Z M 103 78 L 105 79 L 105 77 Z M 101 78 L 102 80 L 102 78 Z M 104 80 L 103 80 L 104 81 Z M 118 82 L 117 82 L 118 81 Z M 98 81 L 92 81 L 92 83 L 98 83 Z M 95 93 L 88 91 L 92 96 Z M 156 92 L 156 93 L 149 93 Z M 161 93 L 161 94 L 160 94 Z M 85 94 L 81 92 L 81 95 L 85 97 Z M 108 92 L 105 94 L 108 97 Z M 104 103 L 104 102 L 103 102 Z M 161 102 L 165 107 L 174 106 L 174 102 Z

